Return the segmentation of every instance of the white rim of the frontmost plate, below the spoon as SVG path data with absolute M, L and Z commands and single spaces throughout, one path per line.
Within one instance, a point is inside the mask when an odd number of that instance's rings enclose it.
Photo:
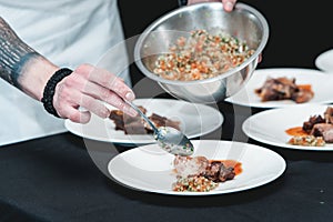
M 246 149 L 258 149 L 258 150 L 261 150 L 262 152 L 268 152 L 272 155 L 274 155 L 275 160 L 279 161 L 279 164 L 280 164 L 280 168 L 279 170 L 276 171 L 276 173 L 274 174 L 274 176 L 271 176 L 270 179 L 265 179 L 256 184 L 252 184 L 252 185 L 245 185 L 244 188 L 233 188 L 233 189 L 226 189 L 226 190 L 220 190 L 220 192 L 214 192 L 214 191 L 210 191 L 210 192 L 176 192 L 176 191 L 168 191 L 168 192 L 163 192 L 163 190 L 144 190 L 144 189 L 139 189 L 139 188 L 135 188 L 133 185 L 129 185 L 127 184 L 122 179 L 117 179 L 114 178 L 114 175 L 111 173 L 110 169 L 112 169 L 112 163 L 113 161 L 117 161 L 119 158 L 121 158 L 122 155 L 124 154 L 129 154 L 130 152 L 135 152 L 138 151 L 140 148 L 144 148 L 144 147 L 151 147 L 151 145 L 157 145 L 157 144 L 147 144 L 147 145 L 140 145 L 138 148 L 134 148 L 134 149 L 131 149 L 131 150 L 127 150 L 120 154 L 118 154 L 117 157 L 112 158 L 109 163 L 108 163 L 108 173 L 109 173 L 109 176 L 111 176 L 111 179 L 125 186 L 125 188 L 129 188 L 129 189 L 133 189 L 133 190 L 137 190 L 137 191 L 141 191 L 141 192 L 148 192 L 148 193 L 158 193 L 158 194 L 165 194 L 165 195 L 179 195 L 179 196 L 202 196 L 202 195 L 221 195 L 221 194 L 230 194 L 230 193 L 236 193 L 236 192 L 244 192 L 244 191 L 248 191 L 248 190 L 251 190 L 251 189 L 255 189 L 255 188 L 260 188 L 260 186 L 263 186 L 263 185 L 266 185 L 273 181 L 275 181 L 276 179 L 279 179 L 285 171 L 286 171 L 286 161 L 284 160 L 284 158 L 282 155 L 280 155 L 278 152 L 271 150 L 271 149 L 268 149 L 268 148 L 264 148 L 264 147 L 261 147 L 261 145 L 256 145 L 256 144 L 252 144 L 252 143 L 245 143 L 245 142 L 240 142 L 240 141 L 228 141 L 228 140 L 191 140 L 191 142 L 193 144 L 196 144 L 198 142 L 206 142 L 206 141 L 210 141 L 210 142 L 219 142 L 219 143 L 238 143 L 238 144 L 243 144 L 246 147 Z

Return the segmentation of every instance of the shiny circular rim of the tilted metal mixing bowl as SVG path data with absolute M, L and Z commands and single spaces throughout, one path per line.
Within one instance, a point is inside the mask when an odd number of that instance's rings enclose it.
M 235 68 L 229 70 L 228 72 L 224 72 L 218 77 L 209 78 L 209 79 L 204 79 L 204 80 L 195 80 L 195 81 L 167 80 L 167 79 L 161 78 L 161 77 L 152 73 L 151 71 L 149 71 L 143 65 L 143 63 L 141 61 L 141 56 L 140 56 L 141 46 L 143 43 L 143 41 L 145 40 L 145 37 L 149 33 L 151 33 L 152 30 L 157 26 L 159 26 L 161 22 L 168 20 L 170 17 L 173 17 L 174 14 L 186 11 L 189 8 L 202 7 L 202 4 L 210 4 L 212 7 L 218 7 L 218 8 L 221 8 L 221 10 L 223 10 L 223 4 L 221 2 L 204 2 L 204 3 L 196 3 L 196 4 L 181 7 L 175 10 L 170 11 L 169 13 L 167 13 L 167 14 L 162 16 L 161 18 L 159 18 L 158 20 L 155 20 L 142 32 L 142 34 L 140 34 L 140 37 L 135 43 L 135 47 L 134 47 L 134 61 L 135 61 L 135 64 L 140 68 L 140 70 L 143 72 L 144 75 L 147 75 L 148 78 L 150 78 L 152 80 L 155 80 L 157 82 L 167 83 L 167 84 L 175 84 L 175 85 L 209 83 L 209 82 L 213 82 L 213 81 L 216 81 L 220 79 L 225 79 L 229 75 L 232 75 L 233 73 L 239 72 L 240 70 L 242 70 L 246 65 L 249 65 L 253 60 L 259 58 L 260 53 L 262 53 L 262 51 L 269 40 L 269 24 L 268 24 L 265 18 L 263 17 L 263 14 L 261 12 L 259 12 L 256 9 L 254 9 L 253 7 L 250 7 L 248 4 L 239 2 L 235 4 L 234 10 L 245 10 L 245 11 L 249 11 L 252 14 L 254 14 L 261 22 L 262 30 L 263 30 L 263 36 L 262 36 L 261 42 L 260 42 L 259 47 L 256 48 L 255 52 L 249 59 L 246 59 L 242 64 L 240 64 L 239 67 L 235 67 Z M 213 4 L 216 4 L 216 6 L 213 6 Z M 163 31 L 174 31 L 174 30 L 163 30 Z

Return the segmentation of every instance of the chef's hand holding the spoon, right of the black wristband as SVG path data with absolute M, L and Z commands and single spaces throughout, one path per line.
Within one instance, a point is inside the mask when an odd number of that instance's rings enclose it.
M 123 99 L 132 101 L 134 93 L 122 79 L 107 70 L 81 64 L 57 84 L 53 107 L 61 118 L 80 123 L 89 122 L 91 112 L 108 118 L 110 110 L 104 103 L 135 115 L 137 112 Z

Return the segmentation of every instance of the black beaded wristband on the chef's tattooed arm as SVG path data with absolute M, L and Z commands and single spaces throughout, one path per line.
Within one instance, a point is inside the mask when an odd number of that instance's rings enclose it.
M 43 98 L 41 99 L 41 102 L 44 105 L 44 109 L 53 114 L 57 118 L 60 118 L 59 114 L 57 113 L 57 110 L 53 107 L 53 97 L 56 92 L 56 87 L 57 84 L 67 75 L 71 74 L 73 71 L 68 69 L 68 68 L 61 68 L 58 71 L 54 72 L 54 74 L 49 79 L 44 92 L 43 92 Z

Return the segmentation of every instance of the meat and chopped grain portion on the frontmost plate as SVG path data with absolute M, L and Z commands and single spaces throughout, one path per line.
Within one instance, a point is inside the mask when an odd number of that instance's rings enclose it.
M 209 160 L 205 157 L 176 155 L 174 161 L 176 192 L 209 192 L 220 182 L 233 180 L 242 172 L 241 163 L 233 160 Z

